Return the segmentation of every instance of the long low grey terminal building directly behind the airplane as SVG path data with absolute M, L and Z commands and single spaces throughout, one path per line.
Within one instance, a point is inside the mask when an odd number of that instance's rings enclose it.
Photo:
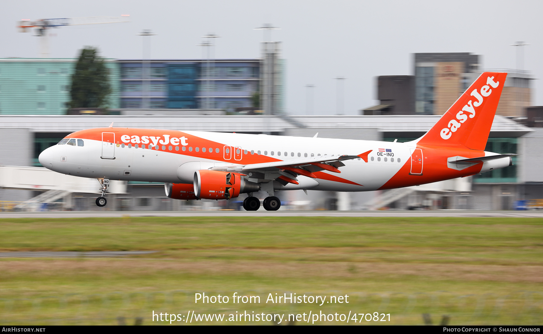
M 112 122 L 119 127 L 271 133 L 282 136 L 365 140 L 397 139 L 406 142 L 422 136 L 439 115 L 359 115 L 359 116 L 266 116 L 266 115 L 0 115 L 0 157 L 3 165 L 36 166 L 39 153 L 66 134 Z M 534 117 L 534 120 L 537 117 Z M 540 124 L 532 121 L 531 124 Z M 335 193 L 301 190 L 277 195 L 285 209 L 513 209 L 518 200 L 543 198 L 543 176 L 537 171 L 543 164 L 539 153 L 543 128 L 529 127 L 507 117 L 496 116 L 487 149 L 497 153 L 519 153 L 514 165 L 474 177 L 376 192 Z M 13 140 L 17 138 L 17 140 Z M 338 147 L 340 149 L 340 147 Z M 340 152 L 338 152 L 340 153 Z M 98 182 L 96 182 L 98 189 Z M 40 189 L 40 188 L 37 188 Z M 17 204 L 40 195 L 35 190 L 0 190 L 0 201 Z M 239 198 L 226 201 L 178 201 L 167 198 L 162 184 L 129 182 L 121 194 L 110 194 L 106 210 L 178 210 L 239 207 Z M 266 195 L 262 192 L 262 198 Z M 43 197 L 43 196 L 42 196 Z M 76 191 L 56 200 L 56 206 L 69 210 L 96 210 L 97 197 Z M 243 198 L 241 198 L 243 200 Z M 11 202 L 10 202 L 11 201 Z M 102 209 L 102 210 L 103 210 Z

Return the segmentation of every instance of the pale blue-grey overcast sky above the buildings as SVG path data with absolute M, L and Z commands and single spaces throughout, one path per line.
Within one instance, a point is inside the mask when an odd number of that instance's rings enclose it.
M 151 29 L 151 57 L 199 59 L 200 36 L 217 38 L 216 57 L 260 56 L 262 31 L 283 42 L 286 111 L 306 113 L 307 84 L 315 85 L 313 114 L 336 114 L 336 80 L 344 76 L 344 114 L 375 104 L 375 76 L 413 74 L 412 53 L 471 52 L 484 68 L 515 68 L 515 48 L 526 41 L 525 69 L 542 78 L 541 1 L 11 1 L 0 11 L 0 57 L 37 57 L 39 41 L 18 33 L 22 18 L 130 15 L 130 23 L 51 30 L 51 57 L 75 57 L 97 46 L 105 57 L 140 59 Z M 543 84 L 533 81 L 532 104 L 543 104 Z

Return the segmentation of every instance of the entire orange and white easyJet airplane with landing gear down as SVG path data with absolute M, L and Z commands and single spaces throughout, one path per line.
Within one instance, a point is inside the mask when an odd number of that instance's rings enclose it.
M 419 139 L 407 143 L 105 127 L 77 131 L 39 157 L 46 168 L 97 178 L 99 207 L 110 179 L 164 182 L 178 200 L 228 200 L 275 190 L 371 191 L 409 187 L 504 168 L 513 154 L 485 152 L 507 73 L 485 72 Z

